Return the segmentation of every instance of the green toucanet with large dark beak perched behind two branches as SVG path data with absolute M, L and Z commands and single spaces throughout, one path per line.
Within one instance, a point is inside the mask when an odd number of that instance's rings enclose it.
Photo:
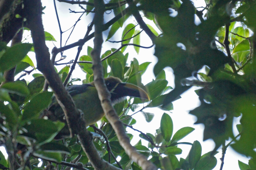
M 115 105 L 126 99 L 126 96 L 138 97 L 142 101 L 149 100 L 148 93 L 137 85 L 124 83 L 119 78 L 105 78 L 105 84 L 111 94 L 111 103 Z M 71 95 L 77 109 L 84 113 L 86 126 L 93 125 L 104 116 L 104 111 L 100 104 L 98 92 L 94 82 L 82 85 L 71 85 L 66 88 Z M 63 120 L 64 112 L 58 104 L 55 97 L 52 99 L 52 104 L 48 108 L 48 117 L 53 120 Z

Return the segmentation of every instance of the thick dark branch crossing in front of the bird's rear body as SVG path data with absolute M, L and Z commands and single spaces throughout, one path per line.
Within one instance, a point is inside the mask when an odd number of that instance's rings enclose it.
M 25 10 L 29 11 L 27 15 L 28 27 L 31 30 L 34 49 L 36 53 L 37 68 L 40 70 L 44 77 L 47 79 L 49 85 L 55 93 L 56 99 L 62 107 L 66 121 L 71 131 L 71 134 L 76 133 L 81 142 L 82 148 L 86 153 L 88 159 L 96 170 L 120 170 L 115 166 L 104 161 L 97 152 L 97 149 L 92 143 L 92 135 L 87 131 L 85 121 L 74 105 L 74 102 L 66 91 L 65 87 L 55 72 L 53 65 L 50 61 L 50 53 L 44 41 L 44 28 L 41 17 L 41 2 L 38 0 L 24 0 Z

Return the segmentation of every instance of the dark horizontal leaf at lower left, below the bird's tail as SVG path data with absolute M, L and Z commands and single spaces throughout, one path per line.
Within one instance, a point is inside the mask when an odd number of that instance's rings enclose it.
M 68 148 L 63 144 L 58 144 L 55 142 L 46 143 L 40 146 L 40 149 L 44 152 L 59 152 L 69 154 Z

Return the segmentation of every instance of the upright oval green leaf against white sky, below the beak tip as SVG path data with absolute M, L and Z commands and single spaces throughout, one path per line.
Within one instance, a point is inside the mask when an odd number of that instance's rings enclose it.
M 164 136 L 164 140 L 166 142 L 169 142 L 172 137 L 173 123 L 172 118 L 167 113 L 164 113 L 162 115 L 160 129 Z

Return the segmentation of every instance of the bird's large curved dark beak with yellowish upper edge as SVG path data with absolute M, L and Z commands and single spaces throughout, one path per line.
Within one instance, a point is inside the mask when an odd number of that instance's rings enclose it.
M 122 85 L 123 92 L 126 96 L 138 97 L 142 101 L 150 100 L 148 93 L 139 86 L 130 83 L 120 83 L 120 85 Z

